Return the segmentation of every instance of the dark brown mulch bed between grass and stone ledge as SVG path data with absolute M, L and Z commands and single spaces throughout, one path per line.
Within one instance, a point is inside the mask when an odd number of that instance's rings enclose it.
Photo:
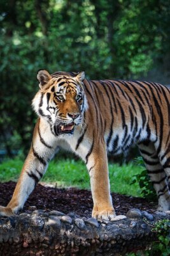
M 6 206 L 15 189 L 15 182 L 0 183 L 0 205 Z M 111 193 L 117 214 L 126 214 L 129 209 L 138 208 L 141 211 L 153 213 L 157 209 L 157 202 L 148 202 L 144 198 L 118 195 Z M 93 207 L 91 191 L 77 188 L 51 188 L 38 184 L 24 205 L 22 212 L 34 209 L 46 211 L 57 210 L 68 214 L 89 218 Z

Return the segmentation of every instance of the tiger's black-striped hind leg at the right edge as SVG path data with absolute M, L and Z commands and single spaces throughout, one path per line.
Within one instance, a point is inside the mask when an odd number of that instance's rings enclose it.
M 167 183 L 167 172 L 164 168 L 165 166 L 162 166 L 162 163 L 160 163 L 157 150 L 152 142 L 139 143 L 138 147 L 145 162 L 150 180 L 153 183 L 153 187 L 155 188 L 159 199 L 157 210 L 168 211 L 170 209 L 170 192 Z

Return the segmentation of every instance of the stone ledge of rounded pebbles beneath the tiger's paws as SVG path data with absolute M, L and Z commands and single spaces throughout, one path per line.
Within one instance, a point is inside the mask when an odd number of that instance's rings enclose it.
M 124 255 L 145 250 L 157 234 L 152 227 L 169 214 L 132 209 L 127 218 L 97 221 L 58 211 L 24 212 L 0 218 L 0 255 Z

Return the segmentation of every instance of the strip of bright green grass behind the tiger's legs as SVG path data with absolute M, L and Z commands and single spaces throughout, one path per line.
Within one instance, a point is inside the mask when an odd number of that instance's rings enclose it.
M 16 181 L 20 175 L 23 162 L 20 159 L 11 159 L 0 164 L 0 180 Z M 142 167 L 134 164 L 109 164 L 110 187 L 112 192 L 140 196 L 141 189 L 137 183 L 132 184 L 132 176 L 141 173 Z M 54 182 L 57 186 L 90 189 L 90 179 L 86 166 L 81 161 L 59 159 L 51 161 L 41 181 Z

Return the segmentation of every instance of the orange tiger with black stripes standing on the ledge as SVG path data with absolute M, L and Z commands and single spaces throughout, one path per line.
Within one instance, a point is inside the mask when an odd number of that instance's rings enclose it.
M 86 164 L 97 220 L 114 220 L 108 154 L 137 145 L 157 193 L 158 211 L 170 210 L 170 90 L 159 83 L 90 80 L 85 72 L 37 74 L 32 100 L 38 115 L 31 149 L 13 196 L 1 216 L 20 212 L 43 177 L 57 148 L 70 150 Z

